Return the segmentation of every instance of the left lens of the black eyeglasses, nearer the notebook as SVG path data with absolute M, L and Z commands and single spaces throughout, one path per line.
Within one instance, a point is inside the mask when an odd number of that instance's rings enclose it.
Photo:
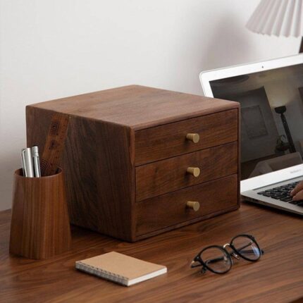
M 231 260 L 230 256 L 217 247 L 209 247 L 201 253 L 201 259 L 204 264 L 211 268 L 216 273 L 225 273 L 230 270 Z

